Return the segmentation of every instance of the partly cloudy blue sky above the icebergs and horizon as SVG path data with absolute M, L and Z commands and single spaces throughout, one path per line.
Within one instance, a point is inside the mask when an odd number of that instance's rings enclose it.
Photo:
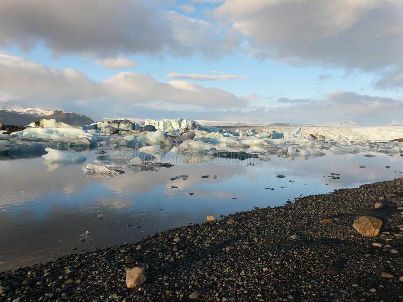
M 93 119 L 403 124 L 400 0 L 0 7 L 0 102 Z

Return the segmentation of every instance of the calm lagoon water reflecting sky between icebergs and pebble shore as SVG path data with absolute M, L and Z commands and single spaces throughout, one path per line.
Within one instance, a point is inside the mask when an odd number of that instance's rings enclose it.
M 253 206 L 281 205 L 300 195 L 403 176 L 395 172 L 403 171 L 403 157 L 363 155 L 327 152 L 309 160 L 271 156 L 266 165 L 253 159 L 224 165 L 219 160 L 202 166 L 178 163 L 158 172 L 127 168 L 124 175 L 103 179 L 83 176 L 82 165 L 45 165 L 42 158 L 2 160 L 0 271 L 56 259 L 72 247 L 79 252 L 136 241 L 174 226 L 205 222 L 208 215 L 220 218 Z M 96 158 L 94 151 L 86 156 L 85 163 Z M 248 165 L 252 161 L 255 165 Z M 341 179 L 331 180 L 329 173 Z M 188 179 L 170 180 L 181 174 Z M 201 178 L 206 174 L 210 178 Z M 286 177 L 277 178 L 279 174 Z M 95 217 L 98 211 L 103 219 Z M 79 241 L 86 231 L 87 242 Z

